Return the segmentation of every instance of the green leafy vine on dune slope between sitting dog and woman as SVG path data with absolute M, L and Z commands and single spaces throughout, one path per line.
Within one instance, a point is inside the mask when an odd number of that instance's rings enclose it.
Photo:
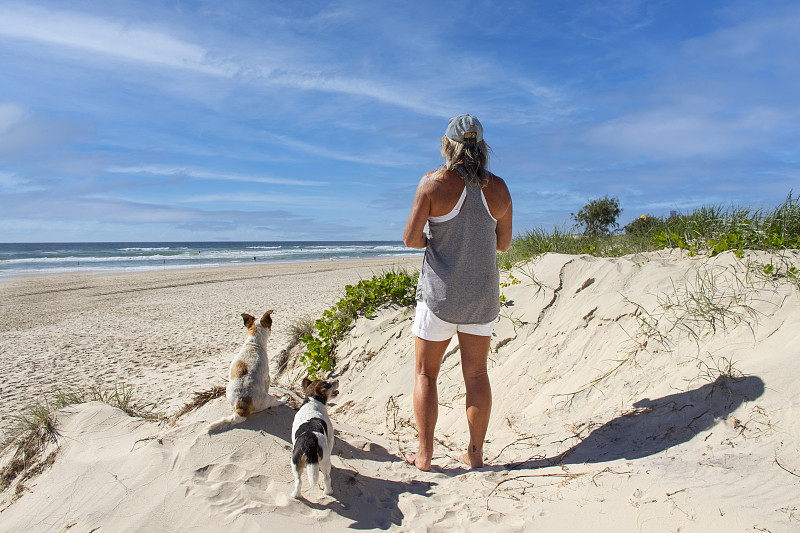
M 300 339 L 306 345 L 300 362 L 308 375 L 316 378 L 333 370 L 336 345 L 359 316 L 372 318 L 378 307 L 392 302 L 406 307 L 414 305 L 417 277 L 417 272 L 396 270 L 346 285 L 344 298 L 323 311 L 322 317 L 314 322 L 314 331 Z

